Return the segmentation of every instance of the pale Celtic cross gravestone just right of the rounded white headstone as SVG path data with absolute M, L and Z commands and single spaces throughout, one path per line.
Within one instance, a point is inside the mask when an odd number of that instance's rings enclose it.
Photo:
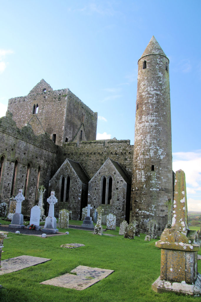
M 49 203 L 49 212 L 48 212 L 48 217 L 46 217 L 44 229 L 42 229 L 42 231 L 47 233 L 56 233 L 58 229 L 57 229 L 57 220 L 54 216 L 55 215 L 54 205 L 55 203 L 57 203 L 57 198 L 55 197 L 55 191 L 51 192 L 51 195 L 47 199 L 47 202 Z

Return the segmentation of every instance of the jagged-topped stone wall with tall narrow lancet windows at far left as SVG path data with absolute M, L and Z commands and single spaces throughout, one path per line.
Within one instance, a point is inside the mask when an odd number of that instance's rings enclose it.
M 40 170 L 39 186 L 44 185 L 48 191 L 49 179 L 55 172 L 57 146 L 49 139 L 49 136 L 35 136 L 31 127 L 16 127 L 9 113 L 0 119 L 0 157 L 4 156 L 0 195 L 9 207 L 9 197 L 14 173 L 14 163 L 17 159 L 17 177 L 14 195 L 19 189 L 25 188 L 27 165 L 30 163 L 30 176 L 28 180 L 27 198 L 22 203 L 22 213 L 30 215 L 31 207 L 38 201 L 36 197 L 36 183 L 38 169 Z M 44 198 L 47 198 L 47 191 Z

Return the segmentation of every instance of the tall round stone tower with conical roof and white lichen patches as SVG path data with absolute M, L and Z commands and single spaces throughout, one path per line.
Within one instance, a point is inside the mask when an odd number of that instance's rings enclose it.
M 130 223 L 146 233 L 154 219 L 162 233 L 172 196 L 169 59 L 153 36 L 138 60 Z

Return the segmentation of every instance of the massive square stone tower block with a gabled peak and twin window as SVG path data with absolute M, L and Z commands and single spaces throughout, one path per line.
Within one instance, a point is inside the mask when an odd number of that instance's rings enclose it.
M 34 105 L 38 105 L 37 113 L 33 111 Z M 8 110 L 13 114 L 17 127 L 29 123 L 35 134 L 47 132 L 51 139 L 56 134 L 57 145 L 65 142 L 66 138 L 68 141 L 74 140 L 82 124 L 86 131 L 86 137 L 83 133 L 82 140 L 96 139 L 97 113 L 68 88 L 53 91 L 44 80 L 27 96 L 9 99 Z

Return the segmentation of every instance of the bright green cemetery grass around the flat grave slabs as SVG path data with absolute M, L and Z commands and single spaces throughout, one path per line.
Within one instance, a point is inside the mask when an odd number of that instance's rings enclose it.
M 107 231 L 118 235 L 116 231 Z M 59 231 L 64 232 L 63 229 Z M 90 231 L 68 229 L 69 235 L 41 238 L 9 233 L 4 239 L 2 260 L 19 255 L 31 255 L 52 260 L 0 275 L 1 302 L 57 301 L 155 301 L 186 302 L 199 298 L 175 293 L 157 294 L 152 283 L 160 275 L 160 249 L 154 239 L 144 241 L 145 235 L 134 240 L 124 236 L 99 236 Z M 76 249 L 60 247 L 64 243 L 83 243 Z M 200 252 L 199 252 L 200 254 Z M 200 260 L 199 260 L 200 261 Z M 201 273 L 201 263 L 198 271 Z M 83 291 L 40 284 L 40 282 L 70 273 L 78 265 L 112 269 L 107 278 Z

